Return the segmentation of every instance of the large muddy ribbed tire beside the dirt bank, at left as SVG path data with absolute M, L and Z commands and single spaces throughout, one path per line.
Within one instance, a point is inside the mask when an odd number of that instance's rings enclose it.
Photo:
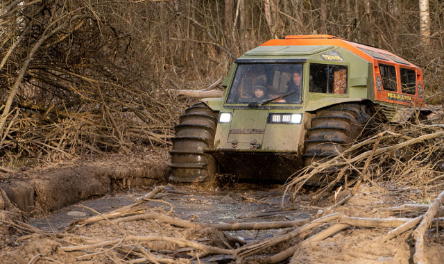
M 192 183 L 204 181 L 213 176 L 217 163 L 211 154 L 204 153 L 214 145 L 219 113 L 212 111 L 203 103 L 195 104 L 180 116 L 174 127 L 176 136 L 171 138 L 170 181 Z

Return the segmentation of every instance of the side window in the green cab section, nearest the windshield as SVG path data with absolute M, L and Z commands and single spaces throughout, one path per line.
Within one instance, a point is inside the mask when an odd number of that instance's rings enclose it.
M 347 94 L 346 66 L 310 64 L 309 92 Z

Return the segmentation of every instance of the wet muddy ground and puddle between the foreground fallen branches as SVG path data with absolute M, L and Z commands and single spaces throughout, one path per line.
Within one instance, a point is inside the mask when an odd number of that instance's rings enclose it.
M 30 219 L 28 223 L 38 226 L 45 231 L 63 231 L 69 223 L 78 217 L 89 217 L 96 215 L 89 209 L 82 207 L 88 206 L 96 211 L 105 213 L 113 211 L 132 204 L 135 199 L 146 195 L 150 190 L 130 189 L 121 190 L 97 199 L 89 199 L 75 206 L 62 208 L 60 211 L 50 213 L 48 215 Z M 281 189 L 275 186 L 264 187 L 264 185 L 242 185 L 234 184 L 229 190 L 213 190 L 210 188 L 198 189 L 184 186 L 165 186 L 165 192 L 155 196 L 158 201 L 147 201 L 139 207 L 145 212 L 153 212 L 167 215 L 170 207 L 160 201 L 167 201 L 173 205 L 173 214 L 182 220 L 191 220 L 194 222 L 205 223 L 230 223 L 230 222 L 268 222 L 268 221 L 285 221 L 296 220 L 298 218 L 306 218 L 314 215 L 320 207 L 308 206 L 309 198 L 313 193 L 310 189 L 302 190 L 297 196 L 295 204 L 297 206 L 294 211 L 280 210 L 280 202 L 282 199 Z M 403 199 L 398 199 L 402 198 Z M 387 202 L 386 202 L 387 201 Z M 390 201 L 390 203 L 388 203 Z M 395 203 L 393 203 L 395 201 Z M 323 203 L 332 204 L 332 201 L 325 199 Z M 393 217 L 391 213 L 387 213 L 383 209 L 391 206 L 400 206 L 403 203 L 412 203 L 409 196 L 393 195 L 392 192 L 383 192 L 377 185 L 364 184 L 361 185 L 358 192 L 348 204 L 339 206 L 332 213 L 343 213 L 350 217 L 377 217 L 388 219 Z M 80 206 L 81 205 L 81 206 Z M 319 204 L 318 204 L 319 206 Z M 137 210 L 139 210 L 137 209 Z M 83 216 L 79 216 L 83 215 Z M 387 218 L 388 217 L 388 218 Z M 404 215 L 395 215 L 395 217 L 404 217 Z M 414 217 L 410 216 L 410 217 Z M 303 234 L 301 237 L 294 238 L 267 247 L 257 253 L 257 257 L 275 256 L 279 252 L 287 250 L 290 245 L 300 243 L 311 235 L 318 235 L 327 230 L 328 226 L 332 226 L 334 222 L 327 223 L 322 227 L 316 227 L 311 231 Z M 240 237 L 247 242 L 247 245 L 253 245 L 252 242 L 265 241 L 264 239 L 275 237 L 278 234 L 287 233 L 289 229 L 274 229 L 262 231 L 223 231 L 214 232 L 211 229 L 194 229 L 180 228 L 167 224 L 162 221 L 153 219 L 134 220 L 128 222 L 120 222 L 117 226 L 112 226 L 107 222 L 98 222 L 88 226 L 80 226 L 78 229 L 71 230 L 67 233 L 58 232 L 60 239 L 54 240 L 54 237 L 40 236 L 33 234 L 26 236 L 26 240 L 17 239 L 17 245 L 14 247 L 6 247 L 0 251 L 0 259 L 2 263 L 29 263 L 34 256 L 42 254 L 49 256 L 48 259 L 54 259 L 62 263 L 76 263 L 80 261 L 80 256 L 89 254 L 91 258 L 87 258 L 88 262 L 82 260 L 82 263 L 111 263 L 115 254 L 120 251 L 110 251 L 110 249 L 88 249 L 86 251 L 67 252 L 60 248 L 72 245 L 90 245 L 95 241 L 112 241 L 123 238 L 124 236 L 140 236 L 144 238 L 153 236 L 164 236 L 168 238 L 185 239 L 190 241 L 198 241 L 200 243 L 208 243 L 208 245 L 216 245 L 221 233 L 224 235 Z M 350 226 L 349 229 L 339 231 L 333 236 L 329 236 L 317 242 L 308 242 L 301 244 L 293 256 L 287 258 L 282 263 L 413 263 L 412 245 L 410 232 L 402 233 L 386 242 L 379 242 L 377 238 L 385 236 L 388 231 L 393 229 L 377 229 L 377 228 L 359 228 Z M 431 229 L 426 239 L 426 255 L 429 263 L 444 264 L 442 258 L 443 234 L 442 232 Z M 225 238 L 225 237 L 223 237 Z M 90 241 L 91 240 L 91 241 Z M 126 245 L 119 247 L 121 250 L 133 249 L 143 245 L 156 256 L 168 256 L 179 261 L 187 259 L 191 263 L 233 263 L 233 256 L 230 254 L 214 254 L 205 256 L 200 259 L 194 258 L 193 247 L 175 246 L 169 242 L 155 241 L 139 243 L 128 241 Z M 225 248 L 223 245 L 217 247 Z M 119 250 L 120 250 L 119 249 Z M 128 254 L 127 251 L 123 251 Z M 96 254 L 96 255 L 94 255 Z M 118 255 L 124 258 L 123 255 Z M 126 256 L 126 255 L 125 255 Z M 125 258 L 126 260 L 134 260 L 135 256 Z M 254 257 L 252 256 L 254 263 Z M 105 261 L 103 261 L 105 260 Z M 176 262 L 178 263 L 178 262 Z

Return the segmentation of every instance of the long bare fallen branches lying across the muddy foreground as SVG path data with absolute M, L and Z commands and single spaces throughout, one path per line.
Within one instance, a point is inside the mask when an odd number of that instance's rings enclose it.
M 156 188 L 151 192 L 149 196 L 155 195 L 155 192 L 161 190 Z M 119 238 L 108 241 L 92 241 L 85 240 L 88 242 L 87 245 L 74 245 L 69 247 L 62 247 L 62 250 L 70 251 L 86 251 L 86 254 L 76 257 L 77 259 L 91 259 L 92 256 L 103 254 L 110 258 L 115 257 L 117 254 L 124 257 L 124 261 L 130 263 L 138 263 L 139 261 L 157 261 L 158 263 L 189 263 L 189 261 L 198 260 L 208 255 L 223 255 L 225 260 L 232 260 L 233 263 L 280 263 L 287 258 L 290 258 L 296 249 L 302 247 L 303 245 L 309 245 L 312 242 L 321 241 L 325 238 L 333 236 L 335 233 L 340 232 L 343 229 L 362 228 L 362 229 L 392 229 L 385 236 L 377 238 L 376 242 L 386 242 L 387 240 L 393 239 L 400 234 L 413 229 L 419 224 L 418 228 L 415 229 L 416 237 L 416 254 L 415 263 L 427 263 L 423 254 L 423 236 L 427 231 L 427 226 L 436 222 L 444 227 L 444 222 L 435 218 L 438 212 L 438 208 L 443 204 L 444 192 L 439 195 L 434 203 L 429 206 L 427 213 L 423 213 L 423 208 L 416 211 L 420 213 L 420 216 L 413 218 L 363 218 L 363 217 L 348 217 L 339 213 L 331 213 L 325 215 L 320 213 L 311 219 L 302 219 L 293 222 L 258 222 L 258 223 L 232 223 L 232 224 L 205 224 L 205 223 L 194 223 L 185 220 L 180 220 L 176 217 L 170 217 L 163 215 L 162 213 L 155 213 L 154 211 L 144 212 L 141 208 L 137 208 L 142 204 L 144 198 L 135 201 L 135 204 L 131 206 L 126 206 L 126 208 L 119 209 L 113 213 L 108 213 L 105 215 L 92 217 L 94 220 L 87 219 L 80 222 L 74 223 L 74 228 L 78 226 L 83 226 L 85 224 L 92 224 L 97 220 L 108 221 L 115 229 L 121 232 Z M 132 210 L 137 210 L 139 217 L 127 216 Z M 172 208 L 171 208 L 172 211 Z M 169 213 L 171 213 L 171 211 Z M 157 221 L 171 224 L 173 226 L 178 226 L 188 229 L 212 229 L 213 232 L 218 233 L 219 238 L 222 243 L 219 245 L 212 243 L 198 242 L 198 240 L 189 240 L 184 238 L 172 238 L 166 236 L 132 236 L 126 233 L 124 230 L 119 229 L 117 224 L 119 222 L 128 222 L 136 220 L 148 220 L 156 219 Z M 421 222 L 422 220 L 422 222 Z M 291 228 L 291 226 L 295 226 Z M 287 229 L 284 233 L 279 236 L 273 236 L 272 238 L 266 238 L 257 242 L 252 242 L 245 244 L 242 240 L 228 236 L 221 231 L 227 230 L 246 230 L 246 229 Z M 171 256 L 166 256 L 165 254 L 159 254 L 160 252 L 155 249 L 147 250 L 145 253 L 144 243 L 151 241 L 162 241 L 168 242 L 176 245 L 176 254 L 181 251 L 180 248 L 186 247 L 189 251 L 189 258 L 172 258 Z M 284 245 L 280 247 L 276 252 L 276 249 L 272 249 L 277 245 Z M 285 246 L 287 245 L 287 246 Z M 131 248 L 132 251 L 128 251 Z M 276 247 L 275 247 L 276 248 Z M 142 249 L 142 251 L 141 251 Z M 282 250 L 284 249 L 284 250 Z M 114 251 L 114 254 L 112 254 Z M 148 252 L 148 254 L 147 254 Z M 135 258 L 131 258 L 133 255 Z

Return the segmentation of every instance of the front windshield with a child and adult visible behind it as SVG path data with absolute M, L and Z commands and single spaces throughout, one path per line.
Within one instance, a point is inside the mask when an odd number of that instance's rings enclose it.
M 301 104 L 302 63 L 240 63 L 228 104 Z

